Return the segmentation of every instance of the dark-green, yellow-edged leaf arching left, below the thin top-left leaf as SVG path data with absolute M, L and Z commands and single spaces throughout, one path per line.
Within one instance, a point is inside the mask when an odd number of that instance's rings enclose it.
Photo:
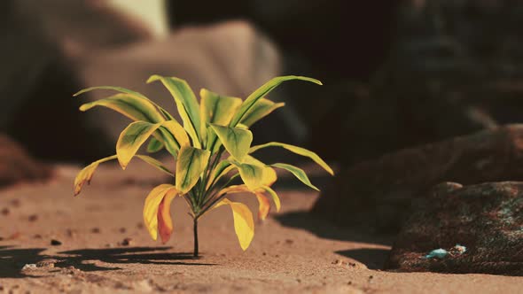
M 152 123 L 165 120 L 159 110 L 149 100 L 130 94 L 116 94 L 82 104 L 80 111 L 86 112 L 93 107 L 104 106 L 127 116 L 131 120 L 144 120 Z

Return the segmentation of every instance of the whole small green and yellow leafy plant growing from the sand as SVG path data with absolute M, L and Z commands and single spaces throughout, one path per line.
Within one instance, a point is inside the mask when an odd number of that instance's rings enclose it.
M 282 76 L 256 89 L 245 101 L 201 89 L 198 102 L 186 81 L 153 75 L 147 82 L 161 81 L 168 89 L 175 99 L 183 126 L 160 105 L 135 91 L 109 86 L 82 89 L 74 96 L 93 89 L 112 89 L 118 92 L 111 97 L 82 104 L 82 112 L 95 106 L 105 106 L 121 112 L 134 122 L 121 132 L 116 143 L 116 155 L 93 162 L 76 176 L 74 195 L 80 193 L 85 182 L 90 182 L 100 163 L 117 159 L 121 168 L 125 169 L 130 160 L 137 157 L 174 178 L 172 182 L 152 189 L 145 198 L 144 224 L 152 239 L 156 240 L 160 235 L 163 243 L 168 241 L 173 231 L 171 202 L 175 197 L 183 197 L 191 208 L 195 257 L 199 254 L 199 218 L 222 205 L 230 206 L 234 229 L 239 244 L 245 251 L 254 237 L 253 215 L 246 205 L 230 201 L 226 195 L 241 192 L 254 194 L 259 202 L 258 216 L 264 220 L 269 213 L 269 199 L 272 199 L 277 211 L 280 209 L 277 193 L 270 188 L 277 180 L 275 167 L 292 173 L 308 187 L 317 190 L 301 168 L 285 163 L 266 165 L 253 157 L 255 151 L 267 147 L 282 147 L 314 160 L 329 174 L 333 174 L 331 167 L 316 153 L 301 147 L 277 142 L 251 146 L 253 133 L 249 128 L 270 112 L 284 106 L 283 103 L 274 103 L 264 97 L 283 81 L 290 80 L 311 81 L 321 85 L 320 81 L 307 77 Z M 174 157 L 174 173 L 157 159 L 137 154 L 147 140 L 148 152 L 165 148 Z M 243 183 L 235 184 L 235 180 Z

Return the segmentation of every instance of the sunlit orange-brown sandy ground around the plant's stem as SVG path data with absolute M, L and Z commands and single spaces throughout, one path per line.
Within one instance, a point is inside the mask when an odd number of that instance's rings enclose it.
M 191 219 L 175 201 L 175 233 L 154 242 L 142 225 L 144 197 L 161 182 L 148 166 L 100 166 L 72 196 L 75 167 L 59 166 L 45 184 L 0 191 L 0 293 L 520 293 L 523 278 L 381 271 L 392 239 L 335 228 L 305 213 L 317 194 L 278 190 L 283 209 L 257 223 L 241 251 L 228 207 L 199 221 L 200 259 L 192 259 Z M 139 175 L 139 177 L 138 177 Z M 243 197 L 256 209 L 256 200 Z M 350 213 L 350 211 L 347 211 Z M 123 245 L 131 238 L 129 245 Z M 61 242 L 51 245 L 51 239 Z M 22 270 L 56 259 L 54 267 Z

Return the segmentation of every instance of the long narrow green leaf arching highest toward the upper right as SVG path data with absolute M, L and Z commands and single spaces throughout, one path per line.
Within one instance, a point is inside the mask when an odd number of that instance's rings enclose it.
M 239 107 L 238 112 L 236 112 L 236 114 L 232 117 L 232 120 L 230 120 L 229 126 L 236 127 L 236 125 L 241 120 L 243 120 L 243 118 L 246 116 L 246 113 L 249 112 L 251 108 L 253 108 L 254 104 L 256 104 L 258 100 L 269 94 L 271 90 L 275 89 L 282 82 L 291 80 L 311 81 L 318 85 L 322 84 L 321 81 L 318 81 L 316 79 L 296 75 L 279 76 L 273 78 L 270 81 L 266 82 L 262 87 L 256 89 L 253 92 L 253 94 L 249 95 L 249 97 L 246 98 L 244 103 L 241 104 L 241 106 Z

